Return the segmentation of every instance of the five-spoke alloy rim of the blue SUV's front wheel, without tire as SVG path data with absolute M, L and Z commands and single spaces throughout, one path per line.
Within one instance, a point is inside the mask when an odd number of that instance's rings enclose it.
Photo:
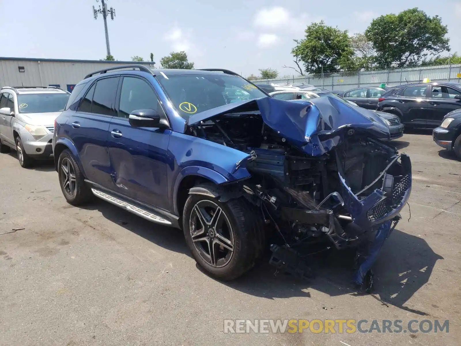
M 231 261 L 234 234 L 229 218 L 218 204 L 209 200 L 195 203 L 189 229 L 195 249 L 208 264 L 220 268 Z

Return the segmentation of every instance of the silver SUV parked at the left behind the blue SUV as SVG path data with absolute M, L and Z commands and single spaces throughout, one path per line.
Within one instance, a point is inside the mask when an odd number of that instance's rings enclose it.
M 0 90 L 0 153 L 18 152 L 19 164 L 53 155 L 54 119 L 71 94 L 57 87 L 3 87 Z

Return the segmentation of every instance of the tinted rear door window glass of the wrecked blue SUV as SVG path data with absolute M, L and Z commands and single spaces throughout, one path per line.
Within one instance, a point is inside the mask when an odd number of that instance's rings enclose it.
M 115 115 L 115 94 L 118 88 L 118 77 L 104 78 L 96 82 L 95 94 L 91 104 L 91 113 Z

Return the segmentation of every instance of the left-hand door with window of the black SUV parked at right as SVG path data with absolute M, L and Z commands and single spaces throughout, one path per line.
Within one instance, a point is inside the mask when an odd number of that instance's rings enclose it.
M 429 86 L 416 85 L 397 91 L 396 107 L 402 112 L 402 123 L 425 127 L 427 124 Z

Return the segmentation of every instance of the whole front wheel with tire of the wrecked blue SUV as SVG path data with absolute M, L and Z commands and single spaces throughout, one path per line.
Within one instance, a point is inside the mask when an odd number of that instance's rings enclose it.
M 212 185 L 199 186 L 212 194 Z M 243 197 L 222 203 L 216 197 L 189 195 L 183 231 L 197 264 L 219 280 L 235 279 L 252 268 L 262 250 L 257 217 Z

